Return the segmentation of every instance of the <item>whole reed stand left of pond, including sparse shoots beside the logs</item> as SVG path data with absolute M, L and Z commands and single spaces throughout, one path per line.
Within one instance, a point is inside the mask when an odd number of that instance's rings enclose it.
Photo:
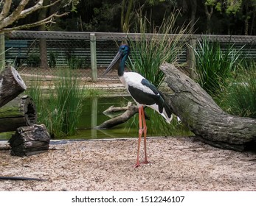
M 38 110 L 38 123 L 45 124 L 52 137 L 75 135 L 82 110 L 83 88 L 70 68 L 58 68 L 54 89 L 47 95 L 40 88 L 40 81 L 28 90 Z

